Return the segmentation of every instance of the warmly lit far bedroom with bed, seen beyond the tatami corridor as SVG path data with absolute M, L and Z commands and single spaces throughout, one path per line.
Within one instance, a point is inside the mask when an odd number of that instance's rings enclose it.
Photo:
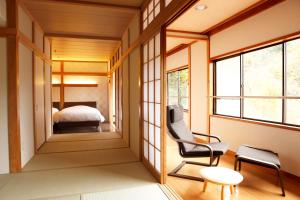
M 52 132 L 39 153 L 125 147 L 123 71 L 110 73 L 105 59 L 119 42 L 52 38 L 51 44 Z

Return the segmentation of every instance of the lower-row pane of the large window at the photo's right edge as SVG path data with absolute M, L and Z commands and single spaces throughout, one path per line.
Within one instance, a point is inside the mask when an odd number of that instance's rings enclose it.
M 287 124 L 300 125 L 300 99 L 286 100 L 286 121 Z

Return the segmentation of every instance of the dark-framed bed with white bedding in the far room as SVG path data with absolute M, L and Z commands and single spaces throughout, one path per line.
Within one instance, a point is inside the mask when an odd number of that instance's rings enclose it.
M 105 121 L 96 102 L 65 102 L 59 109 L 59 102 L 53 102 L 53 129 L 60 131 L 76 127 L 98 127 Z

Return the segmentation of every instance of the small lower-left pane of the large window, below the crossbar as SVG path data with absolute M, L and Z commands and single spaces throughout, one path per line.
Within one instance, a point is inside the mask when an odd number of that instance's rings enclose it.
M 240 100 L 217 99 L 216 114 L 240 117 Z

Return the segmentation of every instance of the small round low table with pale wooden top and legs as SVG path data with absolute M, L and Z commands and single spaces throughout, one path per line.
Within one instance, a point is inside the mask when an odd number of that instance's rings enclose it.
M 225 167 L 205 167 L 200 170 L 200 176 L 204 179 L 203 192 L 205 192 L 207 183 L 214 183 L 222 186 L 221 199 L 225 197 L 225 186 L 230 187 L 230 193 L 234 192 L 235 185 L 243 181 L 243 176 L 232 169 Z

